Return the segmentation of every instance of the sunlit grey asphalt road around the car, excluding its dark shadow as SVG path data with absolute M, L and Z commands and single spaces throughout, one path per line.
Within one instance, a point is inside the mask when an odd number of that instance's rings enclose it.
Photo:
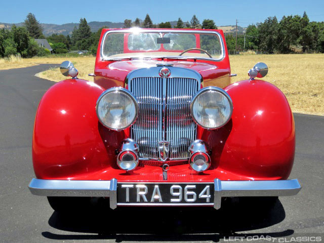
M 54 212 L 45 197 L 33 196 L 27 188 L 34 177 L 31 137 L 36 108 L 54 84 L 34 74 L 50 66 L 54 64 L 0 71 L 0 242 L 218 242 L 224 236 L 324 232 L 324 117 L 303 114 L 294 114 L 296 157 L 290 177 L 298 178 L 303 188 L 297 196 L 280 197 L 273 208 L 234 201 L 219 211 L 111 212 L 99 205 L 67 215 Z

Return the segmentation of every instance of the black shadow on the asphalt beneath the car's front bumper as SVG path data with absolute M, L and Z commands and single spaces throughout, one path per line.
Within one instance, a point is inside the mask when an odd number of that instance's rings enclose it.
M 121 241 L 210 240 L 218 242 L 236 233 L 269 227 L 286 217 L 277 199 L 273 205 L 261 205 L 251 199 L 228 199 L 220 210 L 213 208 L 125 207 L 109 209 L 106 200 L 79 212 L 54 212 L 49 219 L 53 228 L 73 232 L 43 232 L 50 239 L 115 239 Z M 82 234 L 75 234 L 82 233 Z M 84 234 L 86 233 L 86 234 Z M 90 234 L 89 234 L 90 233 Z M 289 236 L 294 230 L 264 233 L 271 237 Z M 262 235 L 262 233 L 251 234 Z

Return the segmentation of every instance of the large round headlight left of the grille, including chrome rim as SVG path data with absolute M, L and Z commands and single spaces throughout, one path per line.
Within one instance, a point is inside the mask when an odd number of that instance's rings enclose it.
M 123 130 L 136 120 L 138 103 L 128 90 L 111 88 L 99 97 L 96 109 L 102 125 L 112 130 Z

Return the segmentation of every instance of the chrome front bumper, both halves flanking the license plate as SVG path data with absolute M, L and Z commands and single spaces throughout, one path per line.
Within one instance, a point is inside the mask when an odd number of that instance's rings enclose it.
M 302 188 L 297 179 L 270 181 L 221 181 L 219 179 L 215 179 L 214 187 L 215 209 L 219 209 L 221 207 L 222 197 L 293 196 L 296 195 Z M 110 208 L 115 209 L 117 207 L 116 179 L 112 179 L 110 181 L 32 179 L 28 188 L 32 194 L 39 196 L 109 197 Z

